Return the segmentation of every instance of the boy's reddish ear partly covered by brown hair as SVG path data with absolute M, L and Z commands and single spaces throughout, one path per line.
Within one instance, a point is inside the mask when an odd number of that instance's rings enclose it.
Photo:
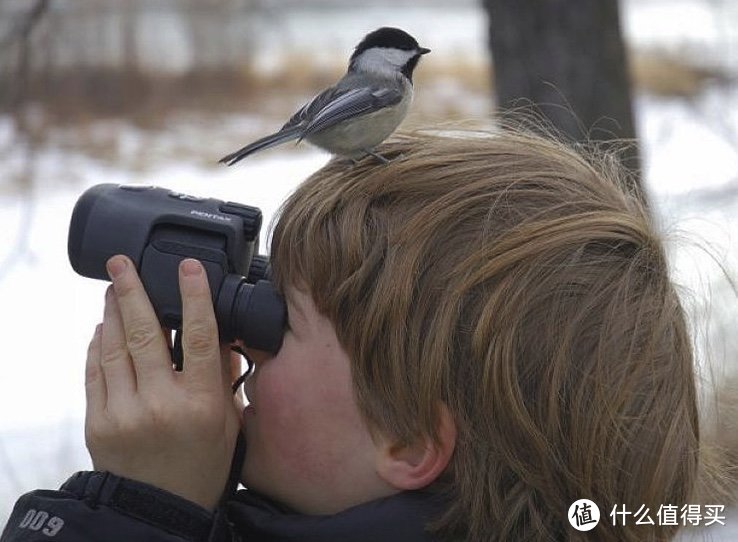
M 439 407 L 438 441 L 431 437 L 400 445 L 384 441 L 378 450 L 377 474 L 395 489 L 421 489 L 440 476 L 456 446 L 456 424 L 445 404 Z

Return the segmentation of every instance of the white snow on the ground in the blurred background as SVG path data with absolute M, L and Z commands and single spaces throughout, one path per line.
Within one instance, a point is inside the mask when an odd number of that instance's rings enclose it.
M 722 7 L 716 10 L 715 5 Z M 628 0 L 622 20 L 632 44 L 699 56 L 700 51 L 714 50 L 716 40 L 726 35 L 730 43 L 738 42 L 738 9 L 731 6 L 730 2 Z M 414 26 L 421 43 L 430 44 L 440 35 L 440 49 L 481 55 L 484 25 L 478 17 L 476 8 L 460 9 L 445 19 L 435 11 L 429 16 L 408 8 L 395 24 Z M 335 24 L 354 36 L 365 27 L 387 24 L 386 19 L 386 12 L 372 8 L 363 20 Z M 286 20 L 282 36 L 300 42 L 300 21 L 299 17 Z M 314 45 L 319 44 L 318 40 Z M 438 49 L 434 46 L 434 54 Z M 718 60 L 738 68 L 736 54 L 726 51 Z M 269 55 L 264 58 L 266 64 L 274 60 Z M 718 62 L 715 58 L 710 61 Z M 710 88 L 697 102 L 647 96 L 636 102 L 644 175 L 660 224 L 673 239 L 669 246 L 676 280 L 695 291 L 693 311 L 712 311 L 721 318 L 716 327 L 733 330 L 725 337 L 733 342 L 738 300 L 724 288 L 724 281 L 719 282 L 719 264 L 733 274 L 738 269 L 737 104 L 735 86 L 729 91 Z M 0 525 L 19 493 L 57 486 L 74 470 L 89 468 L 82 429 L 83 366 L 88 340 L 101 320 L 106 283 L 79 277 L 68 264 L 67 228 L 77 197 L 100 182 L 136 183 L 254 205 L 265 215 L 265 246 L 267 226 L 285 196 L 328 158 L 316 150 L 285 148 L 255 155 L 232 168 L 198 161 L 177 151 L 183 141 L 185 149 L 196 144 L 231 150 L 212 121 L 202 122 L 183 118 L 154 139 L 124 122 L 94 123 L 89 127 L 91 137 L 110 139 L 115 160 L 98 160 L 69 149 L 62 134 L 37 157 L 39 182 L 30 199 L 0 190 L 4 241 L 0 244 L 4 354 L 0 361 Z M 217 122 L 222 122 L 222 132 L 231 134 L 251 131 L 260 120 L 243 115 Z M 209 139 L 211 134 L 215 140 Z M 0 171 L 6 178 L 24 164 L 22 153 L 1 152 L 12 141 L 12 126 L 0 117 Z M 216 158 L 220 154 L 215 151 Z M 717 263 L 700 248 L 705 246 Z M 19 247 L 26 250 L 19 254 Z M 698 347 L 707 357 L 705 347 Z M 711 529 L 712 540 L 738 539 L 735 516 L 730 516 L 727 527 Z

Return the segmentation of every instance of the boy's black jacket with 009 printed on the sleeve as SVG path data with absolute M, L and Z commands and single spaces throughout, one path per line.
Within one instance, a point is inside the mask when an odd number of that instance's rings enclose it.
M 147 484 L 80 472 L 18 499 L 0 542 L 436 542 L 425 525 L 442 508 L 430 493 L 405 492 L 304 516 L 242 490 L 211 514 Z

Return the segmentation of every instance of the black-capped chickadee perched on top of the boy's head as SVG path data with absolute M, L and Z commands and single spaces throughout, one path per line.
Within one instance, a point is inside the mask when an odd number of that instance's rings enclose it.
M 221 158 L 232 166 L 249 154 L 303 139 L 332 154 L 358 159 L 375 156 L 374 147 L 395 131 L 413 98 L 413 70 L 430 49 L 407 32 L 383 27 L 356 46 L 349 67 L 335 86 L 304 105 L 279 132 Z

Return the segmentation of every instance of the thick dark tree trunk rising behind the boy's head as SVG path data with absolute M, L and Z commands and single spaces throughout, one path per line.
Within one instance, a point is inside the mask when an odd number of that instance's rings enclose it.
M 618 0 L 483 2 L 498 107 L 531 107 L 574 141 L 632 141 L 621 160 L 645 201 Z

